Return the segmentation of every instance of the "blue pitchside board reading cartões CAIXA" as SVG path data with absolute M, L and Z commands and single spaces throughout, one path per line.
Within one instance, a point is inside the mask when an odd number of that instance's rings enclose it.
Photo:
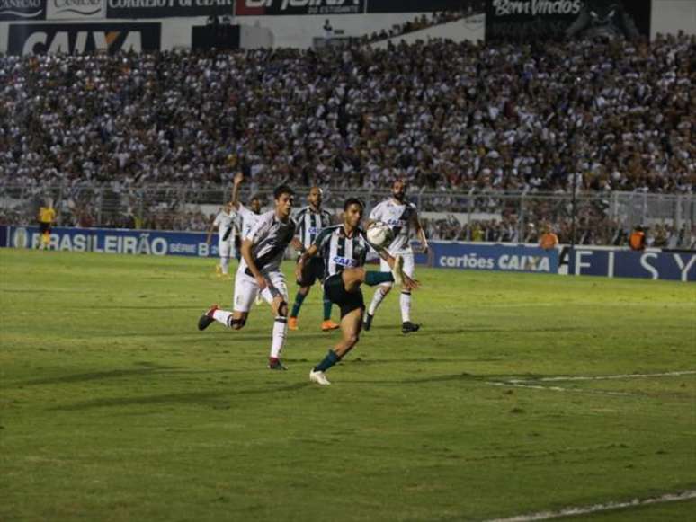
M 431 242 L 433 267 L 460 270 L 558 273 L 558 252 L 504 244 Z

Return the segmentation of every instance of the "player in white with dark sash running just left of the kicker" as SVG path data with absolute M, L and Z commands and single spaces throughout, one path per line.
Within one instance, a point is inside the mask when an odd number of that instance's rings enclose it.
M 273 192 L 273 198 L 275 209 L 262 214 L 242 241 L 242 261 L 235 277 L 234 312 L 212 305 L 201 315 L 198 329 L 205 330 L 214 321 L 234 330 L 241 329 L 254 299 L 260 294 L 271 305 L 275 316 L 268 367 L 284 370 L 281 349 L 288 330 L 288 288 L 281 261 L 295 235 L 295 222 L 290 217 L 294 193 L 287 185 L 281 185 Z

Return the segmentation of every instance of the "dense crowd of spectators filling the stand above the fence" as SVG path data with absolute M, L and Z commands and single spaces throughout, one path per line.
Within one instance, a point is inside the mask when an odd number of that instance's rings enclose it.
M 694 65 L 685 35 L 4 56 L 0 184 L 691 193 Z

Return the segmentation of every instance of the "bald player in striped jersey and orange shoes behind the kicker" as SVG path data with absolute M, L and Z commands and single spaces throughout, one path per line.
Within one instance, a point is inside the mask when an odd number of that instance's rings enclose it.
M 300 254 L 305 252 L 314 243 L 317 234 L 326 226 L 330 226 L 333 222 L 331 213 L 321 208 L 322 190 L 319 187 L 312 187 L 309 190 L 307 207 L 299 209 L 295 215 L 295 221 L 298 224 L 297 236 L 292 240 L 292 246 Z M 317 281 L 324 280 L 324 262 L 321 257 L 313 257 L 305 264 L 302 270 L 302 277 L 298 279 L 299 290 L 295 296 L 295 303 L 292 305 L 290 319 L 288 320 L 288 328 L 290 330 L 298 330 L 298 315 L 302 302 L 309 293 L 309 289 Z M 324 321 L 321 323 L 321 329 L 324 332 L 335 330 L 340 325 L 331 320 L 331 300 L 324 293 Z

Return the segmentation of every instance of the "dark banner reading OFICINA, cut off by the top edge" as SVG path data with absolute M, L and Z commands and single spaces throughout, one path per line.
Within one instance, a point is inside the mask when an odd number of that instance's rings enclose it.
M 236 0 L 236 16 L 361 14 L 365 0 Z

